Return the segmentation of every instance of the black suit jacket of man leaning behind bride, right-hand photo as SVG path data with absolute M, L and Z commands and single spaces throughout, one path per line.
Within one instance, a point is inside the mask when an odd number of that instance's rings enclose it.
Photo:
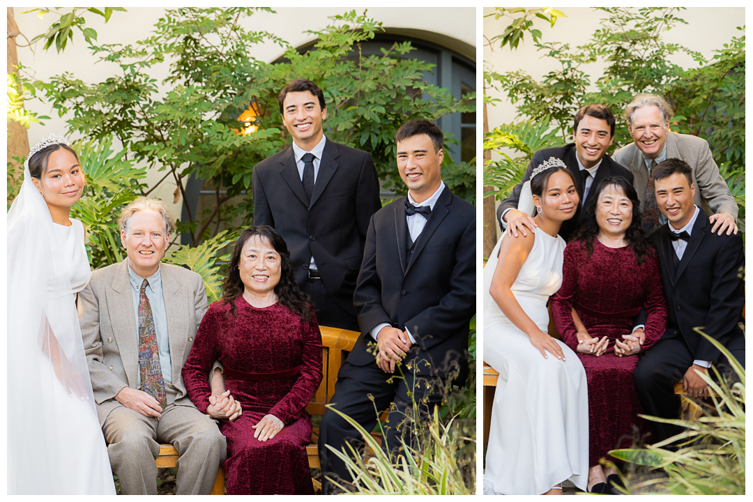
M 544 160 L 549 160 L 549 157 L 554 157 L 556 159 L 562 160 L 562 162 L 566 164 L 567 169 L 569 169 L 570 172 L 573 173 L 573 177 L 575 178 L 575 187 L 578 188 L 578 195 L 581 196 L 581 203 L 578 204 L 578 210 L 575 211 L 575 216 L 573 216 L 569 220 L 563 221 L 562 227 L 559 229 L 559 236 L 561 236 L 562 239 L 565 239 L 566 242 L 569 241 L 570 236 L 572 236 L 572 233 L 575 232 L 575 228 L 578 227 L 578 223 L 581 221 L 581 218 L 583 218 L 584 215 L 584 211 L 581 210 L 585 202 L 583 200 L 584 184 L 583 178 L 581 178 L 581 169 L 578 167 L 577 155 L 578 153 L 575 150 L 575 143 L 569 143 L 568 145 L 565 145 L 563 147 L 544 148 L 542 150 L 536 151 L 536 153 L 533 154 L 531 162 L 528 164 L 526 173 L 523 175 L 523 180 L 521 180 L 519 184 L 515 185 L 513 191 L 510 193 L 510 196 L 508 196 L 507 199 L 503 200 L 497 208 L 497 221 L 499 222 L 500 228 L 502 213 L 504 213 L 508 208 L 517 209 L 518 199 L 520 198 L 520 190 L 523 189 L 523 184 L 531 179 L 531 173 L 533 172 L 533 169 L 539 164 L 543 163 Z M 620 164 L 614 162 L 614 160 L 611 160 L 611 157 L 605 154 L 604 157 L 602 157 L 602 163 L 599 164 L 599 169 L 596 169 L 596 177 L 593 178 L 593 184 L 591 184 L 591 190 L 589 190 L 588 195 L 590 196 L 591 193 L 593 193 L 593 190 L 596 189 L 596 187 L 599 185 L 599 181 L 602 181 L 602 179 L 608 178 L 609 176 L 622 176 L 623 178 L 626 178 L 627 181 L 630 181 L 630 184 L 633 184 L 633 173 L 625 169 L 623 166 L 620 166 Z

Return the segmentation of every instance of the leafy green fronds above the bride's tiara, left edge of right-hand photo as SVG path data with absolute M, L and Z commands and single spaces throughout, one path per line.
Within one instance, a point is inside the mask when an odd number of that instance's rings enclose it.
M 493 194 L 496 199 L 505 199 L 513 187 L 523 179 L 535 151 L 559 145 L 562 145 L 562 141 L 556 130 L 550 130 L 549 117 L 544 117 L 540 121 L 506 123 L 489 131 L 486 133 L 483 149 L 495 151 L 501 159 L 486 163 L 483 186 L 495 187 L 497 190 L 483 195 Z M 510 157 L 503 148 L 519 151 L 522 155 Z

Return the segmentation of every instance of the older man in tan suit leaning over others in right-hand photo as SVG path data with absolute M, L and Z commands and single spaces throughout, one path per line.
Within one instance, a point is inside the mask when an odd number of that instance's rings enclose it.
M 709 143 L 694 135 L 669 131 L 672 107 L 663 97 L 643 93 L 627 105 L 625 118 L 633 144 L 614 153 L 614 161 L 633 173 L 633 187 L 641 201 L 644 230 L 651 234 L 666 218 L 660 214 L 654 195 L 653 166 L 666 159 L 684 160 L 693 169 L 697 187 L 694 203 L 711 214 L 712 232 L 737 233 L 737 203 L 714 162 Z

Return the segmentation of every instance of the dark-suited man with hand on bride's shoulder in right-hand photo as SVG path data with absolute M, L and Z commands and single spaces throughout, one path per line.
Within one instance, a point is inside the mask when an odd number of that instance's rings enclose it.
M 523 233 L 524 236 L 527 235 L 526 227 L 529 232 L 536 227 L 530 214 L 518 211 L 518 200 L 520 190 L 523 184 L 531 178 L 533 169 L 545 160 L 549 160 L 550 157 L 566 163 L 567 168 L 575 175 L 578 195 L 581 196 L 581 203 L 578 205 L 575 217 L 565 221 L 559 229 L 559 236 L 566 241 L 569 240 L 583 217 L 581 208 L 586 203 L 591 187 L 596 187 L 599 181 L 608 176 L 622 176 L 633 183 L 633 173 L 611 160 L 606 154 L 607 148 L 614 141 L 614 123 L 614 115 L 604 105 L 587 105 L 578 110 L 572 130 L 575 142 L 563 147 L 544 148 L 535 152 L 526 169 L 526 174 L 523 175 L 523 180 L 515 185 L 510 196 L 497 208 L 497 219 L 502 231 L 511 227 L 513 235 L 517 237 L 518 232 Z

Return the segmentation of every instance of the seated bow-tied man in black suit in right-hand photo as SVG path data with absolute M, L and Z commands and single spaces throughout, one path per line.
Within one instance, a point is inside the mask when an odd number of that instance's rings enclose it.
M 666 332 L 641 356 L 634 376 L 648 415 L 678 418 L 675 383 L 681 380 L 693 397 L 706 397 L 700 373 L 709 374 L 712 364 L 727 366 L 727 359 L 694 327 L 703 327 L 745 367 L 745 334 L 739 327 L 745 254 L 742 236 L 712 232 L 709 217 L 694 204 L 691 166 L 668 159 L 654 169 L 657 204 L 667 223 L 651 234 L 651 242 L 659 254 L 669 317 Z M 672 424 L 655 425 L 658 440 L 682 431 Z

